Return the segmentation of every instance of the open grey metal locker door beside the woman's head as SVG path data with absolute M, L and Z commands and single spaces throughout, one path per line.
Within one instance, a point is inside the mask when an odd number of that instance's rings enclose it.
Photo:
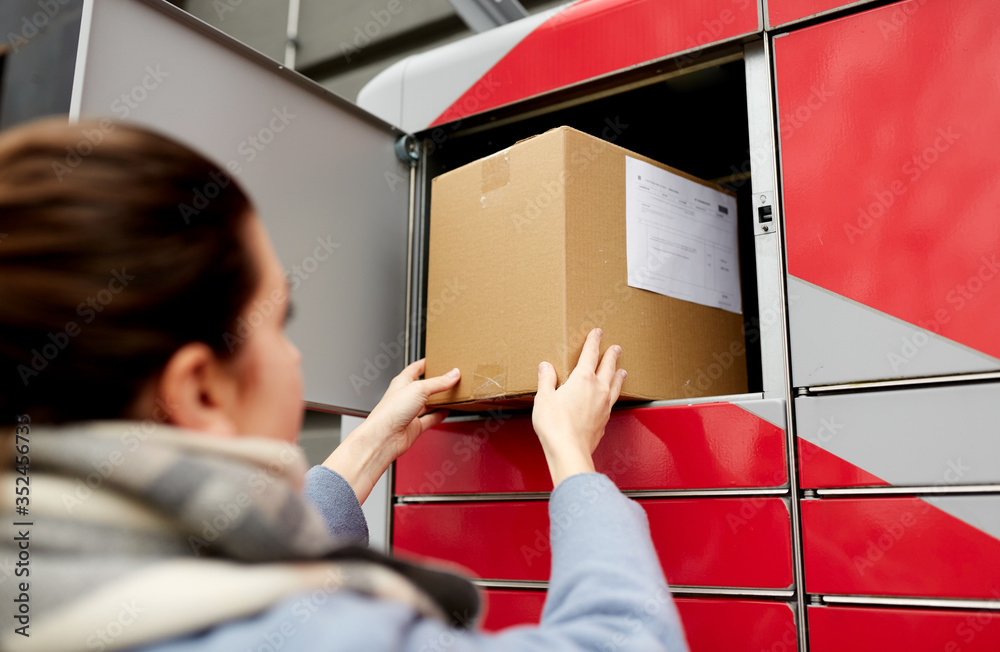
M 162 0 L 87 0 L 70 117 L 94 116 L 155 127 L 229 166 L 293 286 L 306 401 L 370 411 L 405 363 L 401 134 Z

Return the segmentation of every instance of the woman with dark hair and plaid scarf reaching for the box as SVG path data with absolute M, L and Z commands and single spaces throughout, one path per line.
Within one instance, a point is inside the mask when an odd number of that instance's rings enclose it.
M 686 649 L 642 509 L 594 472 L 625 377 L 599 330 L 558 389 L 539 366 L 542 622 L 486 634 L 467 581 L 356 545 L 459 371 L 411 364 L 307 470 L 286 279 L 235 180 L 143 129 L 41 121 L 0 135 L 0 234 L 3 649 Z

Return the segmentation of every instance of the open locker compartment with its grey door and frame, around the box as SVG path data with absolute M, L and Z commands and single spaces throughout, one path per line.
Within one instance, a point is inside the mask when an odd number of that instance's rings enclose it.
M 164 0 L 87 0 L 71 116 L 152 126 L 238 176 L 300 281 L 289 334 L 303 353 L 310 407 L 366 414 L 423 355 L 430 179 L 561 124 L 615 135 L 737 192 L 751 392 L 743 398 L 784 398 L 779 213 L 775 206 L 768 233 L 752 219 L 760 206 L 751 206 L 758 197 L 773 203 L 770 92 L 748 93 L 770 83 L 765 48 L 759 38 L 730 42 L 413 137 Z M 150 70 L 160 81 L 144 85 Z M 763 98 L 756 112 L 755 97 Z M 281 133 L 271 124 L 279 114 L 295 116 Z M 265 129 L 267 143 L 248 144 Z M 421 141 L 433 147 L 407 147 Z M 317 238 L 330 234 L 340 245 L 331 262 L 304 267 Z M 758 296 L 776 318 L 760 318 Z

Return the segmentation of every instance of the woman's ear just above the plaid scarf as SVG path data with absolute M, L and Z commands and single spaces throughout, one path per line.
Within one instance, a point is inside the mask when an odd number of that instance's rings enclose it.
M 179 348 L 160 374 L 156 395 L 170 406 L 168 420 L 215 435 L 239 434 L 239 380 L 207 344 Z

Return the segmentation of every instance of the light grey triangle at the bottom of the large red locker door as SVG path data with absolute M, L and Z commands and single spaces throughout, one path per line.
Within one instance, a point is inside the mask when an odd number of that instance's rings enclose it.
M 1000 360 L 788 277 L 795 387 L 1000 369 Z

